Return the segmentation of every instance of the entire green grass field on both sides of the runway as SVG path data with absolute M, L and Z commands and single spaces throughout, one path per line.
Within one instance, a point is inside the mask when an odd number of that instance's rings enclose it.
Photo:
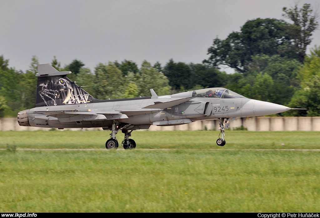
M 134 131 L 137 149 L 114 151 L 108 134 L 0 132 L 0 212 L 320 211 L 320 133 L 228 131 L 219 147 L 218 131 Z

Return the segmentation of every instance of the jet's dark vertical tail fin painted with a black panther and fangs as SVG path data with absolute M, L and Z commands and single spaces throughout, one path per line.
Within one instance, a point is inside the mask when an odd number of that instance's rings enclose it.
M 92 102 L 94 98 L 67 77 L 70 73 L 59 72 L 50 64 L 39 64 L 36 107 Z

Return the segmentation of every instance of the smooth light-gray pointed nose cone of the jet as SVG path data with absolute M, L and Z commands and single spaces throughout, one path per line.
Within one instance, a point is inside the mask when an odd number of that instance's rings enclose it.
M 270 102 L 253 100 L 253 113 L 255 116 L 264 116 L 275 113 L 281 113 L 284 111 L 288 111 L 291 108 L 286 107 L 284 105 L 277 105 Z

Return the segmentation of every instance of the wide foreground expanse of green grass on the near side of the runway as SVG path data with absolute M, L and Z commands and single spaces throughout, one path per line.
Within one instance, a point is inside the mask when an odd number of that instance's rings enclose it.
M 318 151 L 0 151 L 0 212 L 317 212 Z

